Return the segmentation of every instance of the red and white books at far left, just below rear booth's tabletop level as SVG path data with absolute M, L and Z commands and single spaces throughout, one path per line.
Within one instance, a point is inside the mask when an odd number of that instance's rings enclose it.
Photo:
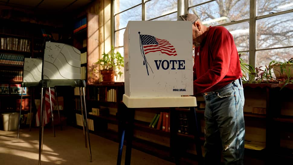
M 0 94 L 18 94 L 21 95 L 21 84 L 0 84 Z M 28 88 L 23 88 L 23 95 L 28 93 Z

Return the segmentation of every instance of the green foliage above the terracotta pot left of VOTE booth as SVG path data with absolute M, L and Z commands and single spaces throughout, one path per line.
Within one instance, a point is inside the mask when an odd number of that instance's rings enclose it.
M 94 69 L 96 71 L 114 71 L 115 76 L 118 75 L 121 77 L 122 72 L 120 71 L 122 67 L 124 67 L 124 58 L 122 55 L 116 51 L 114 51 L 114 47 L 112 46 L 111 51 L 109 53 L 103 53 L 102 58 L 98 59 L 95 63 L 101 69 Z

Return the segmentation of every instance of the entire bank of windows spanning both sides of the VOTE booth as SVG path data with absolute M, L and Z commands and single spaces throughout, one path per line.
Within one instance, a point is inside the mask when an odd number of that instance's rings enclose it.
M 123 51 L 123 33 L 129 20 L 175 21 L 177 5 L 177 0 L 120 0 L 114 10 L 115 48 Z M 226 27 L 233 35 L 241 58 L 246 63 L 250 61 L 252 66 L 293 57 L 292 0 L 188 0 L 188 6 L 184 7 L 198 15 L 204 25 Z M 250 18 L 254 11 L 256 16 Z M 256 34 L 250 31 L 254 28 Z

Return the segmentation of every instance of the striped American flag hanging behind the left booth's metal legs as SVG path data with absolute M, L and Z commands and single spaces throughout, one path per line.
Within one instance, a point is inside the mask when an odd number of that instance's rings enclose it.
M 46 90 L 45 94 L 45 113 L 44 113 L 44 125 L 49 123 L 52 109 L 54 107 L 55 103 L 55 89 L 50 88 L 50 93 L 51 93 L 51 102 L 52 102 L 52 107 L 50 107 L 50 96 L 49 96 L 49 88 Z M 36 114 L 36 124 L 37 126 L 40 126 L 40 109 L 41 109 L 41 104 L 38 108 L 37 114 Z

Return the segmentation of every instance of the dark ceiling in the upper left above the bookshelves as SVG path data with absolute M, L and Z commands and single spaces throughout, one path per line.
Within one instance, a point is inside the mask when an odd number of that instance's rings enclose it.
M 0 5 L 28 9 L 47 14 L 80 10 L 93 0 L 0 0 Z

